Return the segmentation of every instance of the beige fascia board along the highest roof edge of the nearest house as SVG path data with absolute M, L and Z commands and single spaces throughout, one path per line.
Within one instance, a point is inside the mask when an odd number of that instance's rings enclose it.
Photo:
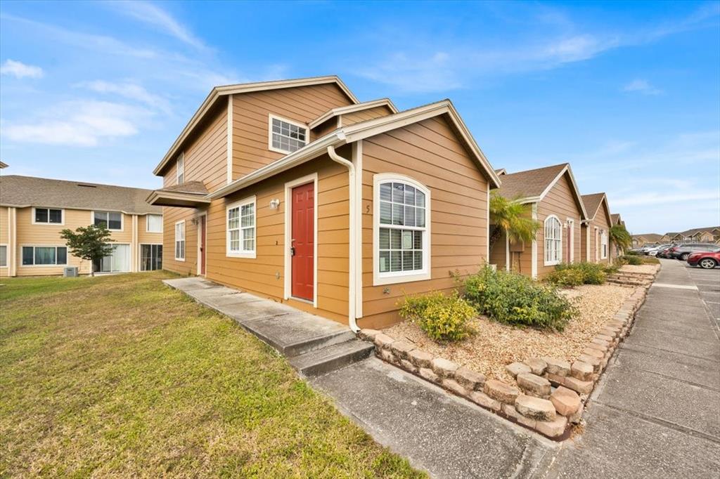
M 338 87 L 348 96 L 349 99 L 351 99 L 351 101 L 354 101 L 356 104 L 360 103 L 354 93 L 350 91 L 346 84 L 343 83 L 343 81 L 337 76 L 300 78 L 297 80 L 262 81 L 258 83 L 246 83 L 244 85 L 216 86 L 215 88 L 212 88 L 202 104 L 200 104 L 197 111 L 195 111 L 195 114 L 192 116 L 190 121 L 187 122 L 182 132 L 173 142 L 168 152 L 166 152 L 165 156 L 163 156 L 161 162 L 155 167 L 153 175 L 159 175 L 171 158 L 175 157 L 179 146 L 186 140 L 195 127 L 197 127 L 197 124 L 204 118 L 207 111 L 212 108 L 215 101 L 217 101 L 220 96 L 234 95 L 235 93 L 249 93 L 251 91 L 277 90 L 279 88 L 292 88 L 297 86 L 323 85 L 325 83 L 337 83 Z

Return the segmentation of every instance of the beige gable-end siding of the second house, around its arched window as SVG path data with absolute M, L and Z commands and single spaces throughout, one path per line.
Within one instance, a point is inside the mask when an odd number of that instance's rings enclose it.
M 538 278 L 543 278 L 544 275 L 550 273 L 555 269 L 554 265 L 545 266 L 545 219 L 554 214 L 560 220 L 563 225 L 562 229 L 562 261 L 567 263 L 569 257 L 569 245 L 568 245 L 568 231 L 565 225 L 567 219 L 572 218 L 574 220 L 575 233 L 573 235 L 573 247 L 574 254 L 573 259 L 575 262 L 581 260 L 580 257 L 580 216 L 582 215 L 580 207 L 577 206 L 575 195 L 572 192 L 572 185 L 570 184 L 570 178 L 568 173 L 565 173 L 560 178 L 555 186 L 547 193 L 545 198 L 538 204 L 538 221 L 543 225 L 539 229 L 537 235 L 537 250 L 538 250 Z M 523 252 L 523 255 L 531 255 L 529 250 Z M 523 271 L 526 273 L 526 271 Z

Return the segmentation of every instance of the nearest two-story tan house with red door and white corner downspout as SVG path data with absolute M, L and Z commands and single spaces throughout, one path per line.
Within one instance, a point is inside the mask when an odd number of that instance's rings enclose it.
M 163 268 L 353 329 L 486 263 L 500 184 L 449 100 L 397 111 L 336 76 L 213 88 L 153 173 Z

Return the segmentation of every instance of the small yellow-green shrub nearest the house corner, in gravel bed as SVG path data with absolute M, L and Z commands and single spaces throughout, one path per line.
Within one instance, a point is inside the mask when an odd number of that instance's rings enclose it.
M 436 291 L 406 297 L 400 316 L 415 321 L 431 339 L 458 341 L 469 334 L 468 321 L 477 311 L 456 291 L 449 296 Z

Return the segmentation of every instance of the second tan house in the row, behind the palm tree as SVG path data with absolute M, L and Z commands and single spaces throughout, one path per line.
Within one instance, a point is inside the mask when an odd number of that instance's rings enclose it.
M 490 263 L 542 278 L 559 263 L 582 259 L 580 225 L 587 214 L 568 163 L 518 173 L 501 170 L 500 180 L 498 194 L 530 205 L 541 228 L 531 245 L 513 244 L 500 234 L 492 245 Z

